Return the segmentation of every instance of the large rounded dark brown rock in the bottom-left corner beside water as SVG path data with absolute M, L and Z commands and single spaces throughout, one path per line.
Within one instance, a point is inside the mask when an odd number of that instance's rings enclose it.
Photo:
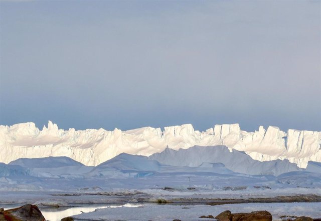
M 10 221 L 45 221 L 45 217 L 37 205 L 26 204 L 18 208 L 4 211 L 6 220 Z

